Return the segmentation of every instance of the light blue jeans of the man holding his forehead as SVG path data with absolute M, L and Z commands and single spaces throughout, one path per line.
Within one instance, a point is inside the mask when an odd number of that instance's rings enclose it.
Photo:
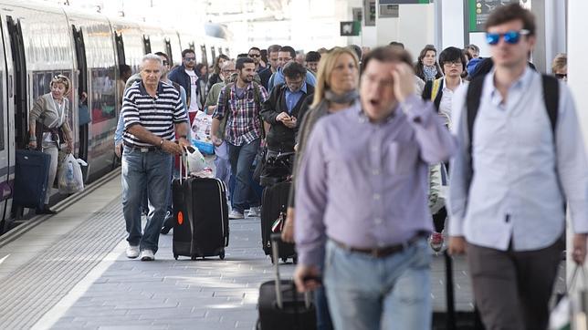
M 335 329 L 431 329 L 430 262 L 425 238 L 385 258 L 327 242 L 324 281 Z

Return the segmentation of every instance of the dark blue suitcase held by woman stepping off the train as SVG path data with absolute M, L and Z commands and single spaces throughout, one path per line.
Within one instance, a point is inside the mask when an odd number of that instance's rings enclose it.
M 40 143 L 40 142 L 39 142 Z M 16 150 L 15 194 L 20 207 L 43 209 L 51 156 L 37 150 Z M 50 183 L 52 184 L 52 183 Z

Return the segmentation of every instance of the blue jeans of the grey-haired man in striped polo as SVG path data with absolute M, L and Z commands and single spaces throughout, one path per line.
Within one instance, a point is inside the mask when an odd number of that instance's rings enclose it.
M 172 155 L 162 150 L 141 152 L 138 148 L 124 147 L 122 151 L 122 213 L 127 223 L 131 245 L 141 250 L 157 252 L 159 232 L 167 211 L 170 195 Z M 144 191 L 149 200 L 147 224 L 141 230 L 141 203 Z

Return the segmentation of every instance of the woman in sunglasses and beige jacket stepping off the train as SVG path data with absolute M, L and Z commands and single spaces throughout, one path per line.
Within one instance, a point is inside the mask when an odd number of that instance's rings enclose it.
M 68 77 L 58 75 L 51 79 L 51 91 L 37 98 L 28 119 L 28 147 L 40 150 L 51 156 L 45 207 L 37 214 L 55 214 L 49 209 L 53 181 L 58 171 L 58 151 L 63 142 L 66 151 L 73 150 L 73 138 L 68 124 L 69 100 L 66 98 L 71 88 Z

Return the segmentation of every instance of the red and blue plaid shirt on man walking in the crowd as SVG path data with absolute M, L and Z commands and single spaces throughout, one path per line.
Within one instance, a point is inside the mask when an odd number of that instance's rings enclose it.
M 264 103 L 269 98 L 268 92 L 261 85 L 258 85 L 258 88 L 259 102 Z M 261 104 L 257 104 L 255 92 L 253 83 L 249 83 L 244 98 L 237 98 L 236 84 L 233 84 L 228 98 L 228 108 L 225 102 L 225 88 L 221 89 L 218 95 L 213 118 L 223 119 L 227 116 L 225 139 L 234 146 L 242 146 L 261 138 Z

